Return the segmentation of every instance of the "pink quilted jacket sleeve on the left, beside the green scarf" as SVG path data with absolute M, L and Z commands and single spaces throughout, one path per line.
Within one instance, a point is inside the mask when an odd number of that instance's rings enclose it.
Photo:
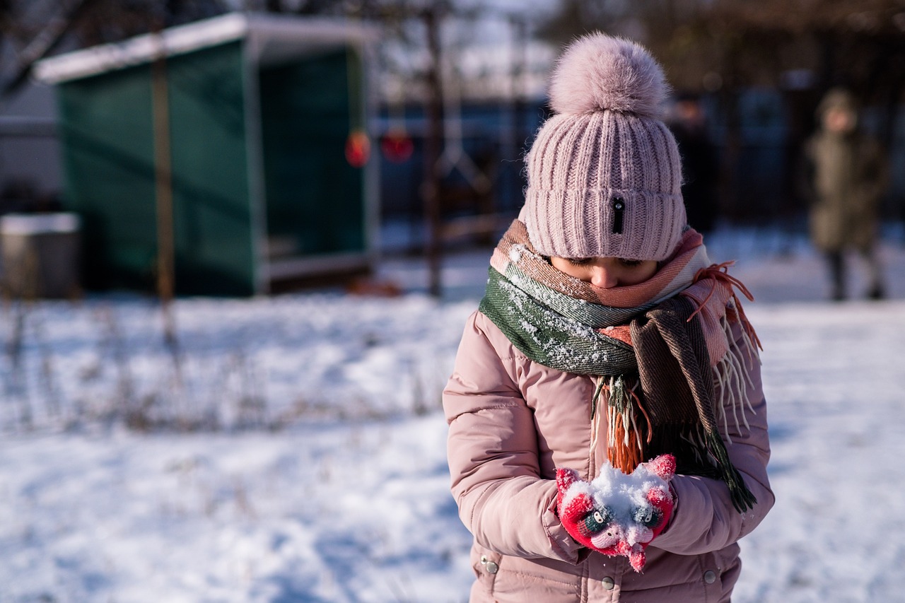
M 469 318 L 443 391 L 452 495 L 481 546 L 576 563 L 580 547 L 555 512 L 556 482 L 540 478 L 538 435 L 516 384 L 519 360 Z

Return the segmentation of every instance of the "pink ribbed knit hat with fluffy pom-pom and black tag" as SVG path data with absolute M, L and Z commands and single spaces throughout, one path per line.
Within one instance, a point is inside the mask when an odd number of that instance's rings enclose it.
M 681 161 L 658 119 L 668 91 L 641 45 L 605 34 L 571 43 L 550 87 L 556 115 L 528 154 L 519 217 L 539 254 L 664 260 L 686 224 Z

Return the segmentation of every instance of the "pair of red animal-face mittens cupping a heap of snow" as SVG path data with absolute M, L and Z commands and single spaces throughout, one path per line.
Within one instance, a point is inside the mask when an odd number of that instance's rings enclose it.
M 566 531 L 589 549 L 628 557 L 644 568 L 644 549 L 672 515 L 672 455 L 660 455 L 626 475 L 610 464 L 591 482 L 574 469 L 557 469 L 557 512 Z

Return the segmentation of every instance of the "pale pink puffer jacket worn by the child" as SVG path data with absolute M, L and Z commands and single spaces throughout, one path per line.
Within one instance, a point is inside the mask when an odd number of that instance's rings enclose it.
M 738 325 L 733 333 L 747 354 Z M 731 438 L 729 457 L 757 498 L 754 510 L 739 514 L 725 483 L 676 475 L 672 521 L 648 547 L 639 574 L 624 557 L 580 547 L 556 514 L 556 468 L 593 479 L 605 462 L 605 450 L 591 451 L 593 379 L 528 359 L 474 312 L 443 391 L 452 495 L 474 535 L 472 603 L 729 601 L 741 570 L 736 541 L 774 503 L 759 361 L 748 368 L 753 387 L 738 385 L 748 388 L 754 408 L 746 410 L 750 428 L 740 416 L 739 428 L 727 407 L 728 433 L 722 425 L 720 431 Z M 727 392 L 721 398 L 730 399 Z

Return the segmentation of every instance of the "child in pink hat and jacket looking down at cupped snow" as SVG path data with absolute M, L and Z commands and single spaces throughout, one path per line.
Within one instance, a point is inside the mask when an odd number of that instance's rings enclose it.
M 686 225 L 665 92 L 604 34 L 557 63 L 443 392 L 472 601 L 729 601 L 773 504 L 748 292 Z

